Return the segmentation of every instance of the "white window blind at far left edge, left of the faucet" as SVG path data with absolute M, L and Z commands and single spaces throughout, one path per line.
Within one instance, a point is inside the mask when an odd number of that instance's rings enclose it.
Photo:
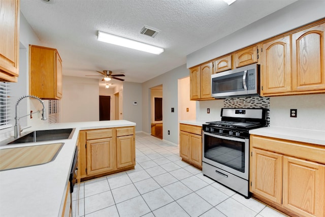
M 10 83 L 0 82 L 0 129 L 12 127 L 10 111 Z

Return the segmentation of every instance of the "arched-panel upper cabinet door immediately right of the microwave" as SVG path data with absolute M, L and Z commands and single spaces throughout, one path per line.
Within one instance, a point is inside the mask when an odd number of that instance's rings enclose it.
M 263 94 L 291 91 L 290 36 L 263 44 L 261 81 Z

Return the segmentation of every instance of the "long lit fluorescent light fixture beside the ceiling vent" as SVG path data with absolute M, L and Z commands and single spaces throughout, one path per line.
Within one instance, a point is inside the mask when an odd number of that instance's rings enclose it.
M 156 47 L 153 45 L 145 44 L 142 42 L 123 38 L 120 36 L 115 36 L 112 34 L 101 32 L 101 31 L 98 31 L 97 40 L 99 40 L 101 42 L 115 44 L 115 45 L 128 47 L 128 48 L 132 48 L 132 49 L 136 49 L 136 50 L 141 50 L 141 51 L 154 53 L 154 54 L 160 54 L 160 53 L 164 52 L 164 48 Z

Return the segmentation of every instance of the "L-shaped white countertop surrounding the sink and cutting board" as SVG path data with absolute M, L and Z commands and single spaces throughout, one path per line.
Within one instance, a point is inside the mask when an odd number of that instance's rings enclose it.
M 47 164 L 0 171 L 0 216 L 58 216 L 80 130 L 136 126 L 127 120 L 55 123 L 28 131 L 76 128 L 72 139 L 0 146 L 22 147 L 63 142 L 54 161 Z M 27 132 L 28 132 L 27 131 Z

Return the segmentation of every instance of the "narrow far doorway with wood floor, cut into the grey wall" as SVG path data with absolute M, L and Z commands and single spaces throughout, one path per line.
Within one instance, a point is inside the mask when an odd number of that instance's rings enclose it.
M 150 88 L 151 135 L 163 139 L 163 85 Z

